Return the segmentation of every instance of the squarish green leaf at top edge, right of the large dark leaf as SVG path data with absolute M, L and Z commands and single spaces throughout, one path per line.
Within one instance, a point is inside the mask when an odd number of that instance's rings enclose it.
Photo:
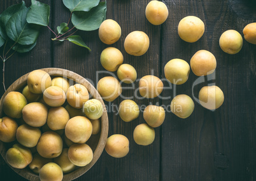
M 27 22 L 47 26 L 50 17 L 50 6 L 36 0 L 31 0 L 30 10 L 27 13 Z

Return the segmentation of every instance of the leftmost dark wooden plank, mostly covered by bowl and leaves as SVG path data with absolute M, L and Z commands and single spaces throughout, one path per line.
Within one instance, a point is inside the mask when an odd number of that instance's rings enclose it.
M 6 8 L 13 4 L 21 3 L 21 0 L 14 1 L 1 1 L 0 13 L 2 13 Z M 50 0 L 42 0 L 41 2 L 50 4 Z M 31 1 L 25 0 L 27 6 L 30 6 Z M 27 72 L 31 72 L 34 69 L 41 69 L 45 67 L 52 66 L 52 40 L 50 36 L 50 32 L 46 27 L 41 28 L 41 32 L 38 37 L 38 43 L 28 53 L 15 53 L 13 57 L 6 61 L 5 64 L 5 84 L 6 89 L 10 84 L 16 81 L 20 76 L 27 74 Z M 1 55 L 3 53 L 3 47 L 0 49 Z M 3 62 L 1 62 L 1 70 L 3 69 Z M 4 93 L 3 85 L 3 74 L 1 71 L 0 74 L 0 95 L 2 96 Z M 0 175 L 2 175 L 3 180 L 25 180 L 20 177 L 15 171 L 11 170 L 10 166 L 8 166 L 3 158 L 0 158 Z

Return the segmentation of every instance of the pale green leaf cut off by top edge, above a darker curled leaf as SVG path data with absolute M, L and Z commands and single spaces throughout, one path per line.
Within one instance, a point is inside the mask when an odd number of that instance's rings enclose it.
M 63 0 L 63 4 L 73 11 L 90 11 L 99 4 L 99 0 Z

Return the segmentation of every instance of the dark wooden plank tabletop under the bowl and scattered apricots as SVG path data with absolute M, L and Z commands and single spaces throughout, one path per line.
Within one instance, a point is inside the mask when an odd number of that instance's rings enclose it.
M 1 1 L 0 12 L 20 0 Z M 50 4 L 50 27 L 67 22 L 69 10 L 62 1 L 41 0 Z M 111 158 L 105 151 L 97 163 L 76 180 L 255 180 L 256 174 L 256 45 L 244 40 L 242 50 L 228 55 L 220 49 L 218 39 L 228 29 L 238 30 L 248 23 L 256 22 L 256 5 L 247 0 L 168 0 L 167 21 L 160 26 L 150 24 L 145 17 L 147 1 L 108 0 L 107 18 L 116 20 L 122 28 L 122 36 L 110 45 L 124 54 L 124 63 L 131 64 L 138 78 L 153 74 L 164 78 L 164 65 L 173 58 L 190 61 L 198 50 L 209 50 L 217 58 L 217 69 L 212 80 L 193 83 L 199 77 L 190 72 L 187 83 L 164 90 L 166 100 L 159 98 L 133 100 L 139 105 L 150 103 L 169 105 L 173 95 L 185 93 L 197 97 L 206 84 L 216 83 L 225 95 L 222 107 L 209 111 L 195 102 L 194 112 L 187 119 L 180 119 L 166 112 L 166 120 L 155 128 L 155 141 L 148 146 L 137 145 L 132 137 L 134 128 L 145 123 L 143 113 L 131 123 L 125 123 L 109 112 L 109 135 L 120 133 L 129 138 L 130 152 L 125 158 Z M 253 2 L 253 1 L 252 1 Z M 26 0 L 29 4 L 30 1 Z M 195 15 L 205 23 L 203 37 L 196 43 L 186 43 L 178 36 L 177 27 L 181 18 Z M 145 55 L 134 57 L 124 50 L 124 39 L 133 30 L 142 30 L 150 37 L 150 48 Z M 103 44 L 98 31 L 82 32 L 91 52 L 74 44 L 53 42 L 53 34 L 41 29 L 38 44 L 29 53 L 16 53 L 6 62 L 6 86 L 18 77 L 34 69 L 60 67 L 72 70 L 97 84 L 97 70 L 104 70 L 100 63 Z M 1 51 L 2 52 L 2 51 Z M 2 65 L 1 65 L 2 66 Z M 2 67 L 1 67 L 2 69 Z M 116 75 L 116 73 L 115 73 Z M 104 74 L 99 74 L 103 77 Z M 0 74 L 0 80 L 2 80 Z M 167 81 L 164 85 L 168 86 Z M 138 82 L 136 83 L 138 88 Z M 3 95 L 1 86 L 1 95 Z M 125 90 L 123 95 L 132 96 L 134 90 Z M 113 105 L 123 99 L 117 98 Z M 106 105 L 108 102 L 106 102 Z M 25 180 L 11 170 L 1 158 L 0 180 Z

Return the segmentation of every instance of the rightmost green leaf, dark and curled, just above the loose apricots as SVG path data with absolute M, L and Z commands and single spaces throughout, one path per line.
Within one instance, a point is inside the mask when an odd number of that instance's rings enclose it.
M 76 29 L 89 31 L 98 29 L 105 17 L 106 2 L 101 2 L 89 12 L 75 11 L 71 21 Z

